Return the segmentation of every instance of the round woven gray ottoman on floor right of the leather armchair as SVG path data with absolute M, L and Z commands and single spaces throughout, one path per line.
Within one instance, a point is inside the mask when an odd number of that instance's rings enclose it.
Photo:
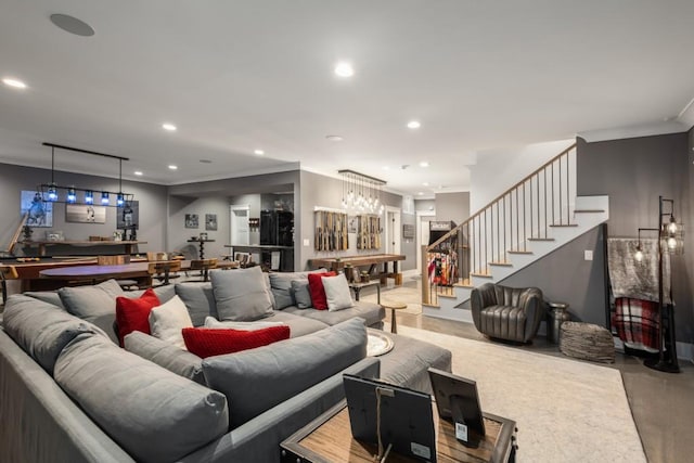
M 615 361 L 615 343 L 612 333 L 592 323 L 562 323 L 560 351 L 576 359 L 604 363 Z

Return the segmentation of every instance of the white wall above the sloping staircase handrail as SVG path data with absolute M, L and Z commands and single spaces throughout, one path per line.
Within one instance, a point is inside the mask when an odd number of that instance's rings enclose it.
M 526 176 L 575 143 L 574 139 L 477 154 L 470 166 L 470 211 L 475 214 Z

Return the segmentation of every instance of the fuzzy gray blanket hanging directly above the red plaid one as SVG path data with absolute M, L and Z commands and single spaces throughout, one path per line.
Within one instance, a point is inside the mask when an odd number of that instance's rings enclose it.
M 639 241 L 633 237 L 607 239 L 607 266 L 614 297 L 658 301 L 658 240 L 642 239 L 643 260 L 634 254 Z M 670 255 L 663 255 L 663 304 L 670 300 Z

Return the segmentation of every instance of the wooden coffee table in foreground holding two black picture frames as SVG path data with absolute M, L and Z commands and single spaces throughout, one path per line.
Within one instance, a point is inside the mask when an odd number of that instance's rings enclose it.
M 351 437 L 349 412 L 345 400 L 294 433 L 280 445 L 282 463 L 369 462 L 377 453 L 377 446 L 360 442 Z M 453 425 L 439 420 L 434 408 L 437 458 L 455 462 L 515 462 L 516 424 L 512 420 L 484 413 L 487 435 L 476 449 L 455 439 Z M 390 453 L 388 463 L 413 462 Z

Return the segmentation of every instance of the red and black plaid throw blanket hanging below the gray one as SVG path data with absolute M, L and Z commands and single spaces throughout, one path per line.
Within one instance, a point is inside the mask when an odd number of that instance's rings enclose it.
M 658 351 L 658 303 L 617 297 L 612 325 L 625 346 L 647 352 Z

